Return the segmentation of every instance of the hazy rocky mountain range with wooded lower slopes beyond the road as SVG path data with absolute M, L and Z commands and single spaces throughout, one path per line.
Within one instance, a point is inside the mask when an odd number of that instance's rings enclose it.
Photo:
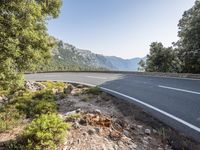
M 55 39 L 54 39 L 55 40 Z M 75 46 L 56 40 L 52 50 L 50 63 L 42 65 L 40 70 L 121 70 L 137 71 L 141 58 L 122 59 L 115 56 L 104 56 L 89 50 L 78 49 Z

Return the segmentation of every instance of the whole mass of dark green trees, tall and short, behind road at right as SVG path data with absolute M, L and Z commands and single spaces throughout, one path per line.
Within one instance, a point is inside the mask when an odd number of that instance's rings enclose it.
M 200 1 L 185 11 L 179 21 L 179 40 L 172 47 L 153 42 L 146 63 L 140 70 L 155 72 L 200 73 Z

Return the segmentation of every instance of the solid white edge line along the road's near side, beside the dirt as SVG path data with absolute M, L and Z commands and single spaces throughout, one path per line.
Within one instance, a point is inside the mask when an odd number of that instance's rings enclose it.
M 97 86 L 97 85 L 94 85 L 94 84 L 88 84 L 88 83 L 76 82 L 76 81 L 66 81 L 66 80 L 55 80 L 55 81 L 63 81 L 63 82 L 69 82 L 69 83 L 83 84 L 83 85 L 92 86 L 92 87 Z M 196 127 L 195 125 L 192 125 L 192 124 L 190 124 L 190 123 L 188 123 L 188 122 L 186 122 L 186 121 L 184 121 L 184 120 L 182 120 L 182 119 L 180 119 L 180 118 L 178 118 L 178 117 L 176 117 L 176 116 L 174 116 L 174 115 L 172 115 L 172 114 L 169 114 L 169 113 L 167 113 L 167 112 L 165 112 L 165 111 L 159 109 L 159 108 L 156 108 L 156 107 L 154 107 L 154 106 L 152 106 L 152 105 L 149 105 L 149 104 L 147 104 L 147 103 L 144 103 L 144 102 L 142 102 L 141 100 L 138 100 L 138 99 L 136 99 L 136 98 L 130 97 L 130 96 L 128 96 L 128 95 L 122 94 L 122 93 L 120 93 L 120 92 L 117 92 L 117 91 L 114 91 L 114 90 L 111 90 L 111 89 L 107 89 L 107 88 L 104 88 L 104 87 L 100 87 L 100 88 L 101 88 L 102 90 L 105 90 L 105 91 L 108 91 L 108 92 L 111 92 L 111 93 L 120 95 L 120 96 L 122 96 L 122 97 L 131 99 L 131 100 L 133 100 L 133 101 L 135 101 L 135 102 L 138 102 L 138 103 L 140 103 L 140 104 L 142 104 L 142 105 L 144 105 L 144 106 L 146 106 L 146 107 L 149 107 L 149 108 L 151 108 L 151 109 L 153 109 L 153 110 L 155 110 L 155 111 L 157 111 L 157 112 L 159 112 L 159 113 L 161 113 L 161 114 L 163 114 L 163 115 L 165 115 L 165 116 L 167 116 L 167 117 L 169 117 L 169 118 L 172 118 L 172 119 L 174 119 L 174 120 L 176 120 L 176 121 L 178 121 L 178 122 L 180 122 L 180 123 L 182 123 L 182 124 L 188 126 L 189 128 L 191 128 L 191 129 L 193 129 L 193 130 L 195 130 L 195 131 L 197 131 L 197 132 L 200 132 L 200 128 L 199 128 L 199 127 Z

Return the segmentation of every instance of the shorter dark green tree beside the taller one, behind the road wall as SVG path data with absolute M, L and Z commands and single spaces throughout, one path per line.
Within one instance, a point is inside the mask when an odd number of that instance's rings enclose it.
M 153 42 L 147 55 L 145 71 L 174 72 L 176 70 L 175 53 L 172 47 L 165 48 L 162 43 Z

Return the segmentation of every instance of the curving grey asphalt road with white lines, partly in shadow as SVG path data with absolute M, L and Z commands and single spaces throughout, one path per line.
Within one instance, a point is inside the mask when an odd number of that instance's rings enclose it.
M 38 73 L 26 79 L 98 85 L 200 142 L 200 79 L 115 73 Z

